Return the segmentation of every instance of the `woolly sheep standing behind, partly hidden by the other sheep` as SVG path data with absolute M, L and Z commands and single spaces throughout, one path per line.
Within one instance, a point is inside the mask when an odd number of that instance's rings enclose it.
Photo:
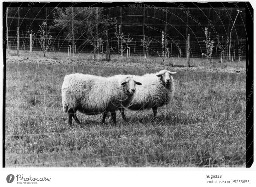
M 133 78 L 142 83 L 134 94 L 133 100 L 129 106 L 131 110 L 153 110 L 156 118 L 157 108 L 170 102 L 174 95 L 175 87 L 172 75 L 176 72 L 162 70 L 155 74 L 145 74 Z M 124 111 L 120 111 L 125 119 Z

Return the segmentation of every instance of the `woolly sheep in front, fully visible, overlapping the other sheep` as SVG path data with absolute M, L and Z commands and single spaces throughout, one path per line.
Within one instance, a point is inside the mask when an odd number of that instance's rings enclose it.
M 102 123 L 105 123 L 107 113 L 116 124 L 116 110 L 127 107 L 136 91 L 136 82 L 132 75 L 116 75 L 100 77 L 89 74 L 66 75 L 61 87 L 63 111 L 68 111 L 68 124 L 72 117 L 80 124 L 76 111 L 87 115 L 103 113 Z

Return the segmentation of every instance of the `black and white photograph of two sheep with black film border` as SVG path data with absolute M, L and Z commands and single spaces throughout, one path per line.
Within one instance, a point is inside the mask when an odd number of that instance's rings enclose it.
M 4 168 L 252 166 L 249 2 L 2 5 Z

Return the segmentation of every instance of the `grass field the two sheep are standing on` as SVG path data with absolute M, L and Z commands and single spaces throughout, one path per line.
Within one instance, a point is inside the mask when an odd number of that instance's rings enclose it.
M 152 111 L 126 111 L 126 123 L 117 112 L 117 124 L 104 125 L 102 114 L 78 112 L 82 124 L 68 125 L 60 89 L 66 74 L 141 75 L 161 69 L 7 60 L 6 166 L 245 167 L 241 72 L 175 68 L 176 93 L 154 121 Z

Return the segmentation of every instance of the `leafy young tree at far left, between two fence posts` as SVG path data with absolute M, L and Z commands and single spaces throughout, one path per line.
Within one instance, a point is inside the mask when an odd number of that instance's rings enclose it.
M 44 53 L 44 57 L 45 57 L 45 53 L 47 51 L 47 49 L 49 48 L 49 46 L 52 43 L 52 36 L 50 35 L 49 32 L 45 32 L 45 26 L 46 26 L 46 22 L 43 21 L 43 23 L 41 23 L 39 26 L 39 38 L 38 41 L 40 43 L 41 49 L 43 50 Z M 46 39 L 48 39 L 48 41 L 46 42 Z

